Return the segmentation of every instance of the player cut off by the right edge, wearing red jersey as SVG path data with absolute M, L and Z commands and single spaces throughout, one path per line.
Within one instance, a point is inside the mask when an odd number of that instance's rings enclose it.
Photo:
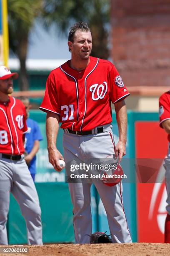
M 159 117 L 160 127 L 164 128 L 168 133 L 168 154 L 165 158 L 165 178 L 166 178 L 166 189 L 167 189 L 167 206 L 168 212 L 165 220 L 165 243 L 170 243 L 170 91 L 163 93 L 159 99 Z

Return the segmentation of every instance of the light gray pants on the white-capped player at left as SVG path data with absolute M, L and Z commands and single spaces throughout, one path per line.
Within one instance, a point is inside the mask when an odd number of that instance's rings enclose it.
M 35 184 L 25 160 L 12 161 L 0 154 L 0 244 L 7 245 L 6 222 L 10 192 L 26 221 L 28 244 L 42 244 L 41 209 Z

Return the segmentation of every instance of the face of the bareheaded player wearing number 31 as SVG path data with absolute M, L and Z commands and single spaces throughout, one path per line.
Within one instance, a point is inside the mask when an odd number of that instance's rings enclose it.
M 74 35 L 74 41 L 68 41 L 72 57 L 77 60 L 86 60 L 89 58 L 92 50 L 92 35 L 89 32 L 77 30 Z

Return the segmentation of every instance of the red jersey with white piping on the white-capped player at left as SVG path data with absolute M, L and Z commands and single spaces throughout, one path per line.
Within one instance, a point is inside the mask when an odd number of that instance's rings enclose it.
M 23 102 L 14 97 L 9 97 L 6 104 L 0 102 L 0 153 L 23 154 L 23 133 L 26 131 L 26 111 Z

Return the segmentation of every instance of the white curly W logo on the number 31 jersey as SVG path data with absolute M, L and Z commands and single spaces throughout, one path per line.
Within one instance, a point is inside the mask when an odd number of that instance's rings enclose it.
M 105 97 L 107 92 L 107 82 L 103 82 L 103 84 L 93 84 L 90 86 L 90 92 L 92 92 L 92 100 L 99 100 Z M 97 97 L 95 97 L 96 95 Z

